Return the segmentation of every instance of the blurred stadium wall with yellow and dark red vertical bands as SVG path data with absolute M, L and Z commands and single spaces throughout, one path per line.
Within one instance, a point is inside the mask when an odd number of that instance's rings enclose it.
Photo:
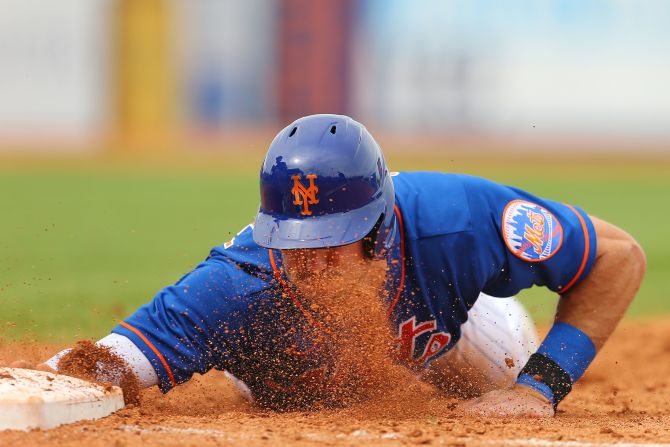
M 324 111 L 377 132 L 669 147 L 663 0 L 2 3 L 5 151 L 274 131 Z

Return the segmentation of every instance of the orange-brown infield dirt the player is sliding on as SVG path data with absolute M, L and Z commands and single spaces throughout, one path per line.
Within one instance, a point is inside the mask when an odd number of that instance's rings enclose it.
M 55 349 L 1 343 L 0 365 Z M 624 323 L 553 419 L 463 417 L 456 402 L 399 383 L 383 401 L 280 414 L 253 408 L 221 373 L 209 373 L 166 396 L 145 391 L 140 406 L 101 421 L 2 432 L 0 446 L 670 446 L 670 318 Z

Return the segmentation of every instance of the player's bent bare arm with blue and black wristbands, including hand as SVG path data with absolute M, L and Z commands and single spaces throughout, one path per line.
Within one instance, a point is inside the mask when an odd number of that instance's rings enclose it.
M 551 416 L 610 337 L 640 287 L 646 259 L 625 231 L 595 217 L 591 221 L 597 239 L 592 270 L 561 295 L 555 325 L 524 368 L 525 374 L 522 371 L 512 390 L 488 393 L 465 404 L 464 410 Z

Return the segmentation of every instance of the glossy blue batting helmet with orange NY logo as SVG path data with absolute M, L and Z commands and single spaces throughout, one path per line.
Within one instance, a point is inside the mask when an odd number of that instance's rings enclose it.
M 260 183 L 253 237 L 263 247 L 333 247 L 372 232 L 379 254 L 393 240 L 395 195 L 384 155 L 348 116 L 311 115 L 284 128 L 270 144 Z

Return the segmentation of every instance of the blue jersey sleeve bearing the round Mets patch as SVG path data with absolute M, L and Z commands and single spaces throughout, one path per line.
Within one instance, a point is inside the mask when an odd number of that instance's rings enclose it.
M 596 235 L 583 210 L 475 177 L 465 184 L 484 293 L 507 297 L 538 285 L 563 294 L 589 274 Z

